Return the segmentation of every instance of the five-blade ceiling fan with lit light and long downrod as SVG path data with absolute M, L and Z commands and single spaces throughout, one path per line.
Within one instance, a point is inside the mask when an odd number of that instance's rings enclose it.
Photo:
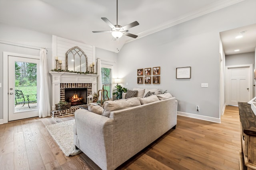
M 128 33 L 128 29 L 135 27 L 137 25 L 139 25 L 139 23 L 137 21 L 134 21 L 132 23 L 129 23 L 128 25 L 125 26 L 121 26 L 118 25 L 118 0 L 116 0 L 116 25 L 113 25 L 107 18 L 101 18 L 103 21 L 105 21 L 110 27 L 111 27 L 111 31 L 92 31 L 93 33 L 112 33 L 112 36 L 116 39 L 122 37 L 122 35 L 126 35 L 128 37 L 132 37 L 132 38 L 137 38 L 138 35 L 134 35 L 131 33 Z

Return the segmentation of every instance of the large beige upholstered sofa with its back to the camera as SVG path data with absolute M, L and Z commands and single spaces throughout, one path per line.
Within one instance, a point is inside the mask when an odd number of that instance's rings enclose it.
M 114 170 L 177 123 L 177 101 L 168 94 L 107 101 L 89 110 L 75 112 L 74 143 L 103 170 Z

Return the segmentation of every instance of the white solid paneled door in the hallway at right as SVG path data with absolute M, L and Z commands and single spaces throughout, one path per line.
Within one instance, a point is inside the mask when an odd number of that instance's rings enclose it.
M 252 64 L 226 67 L 226 104 L 238 106 L 238 102 L 248 102 L 252 93 Z

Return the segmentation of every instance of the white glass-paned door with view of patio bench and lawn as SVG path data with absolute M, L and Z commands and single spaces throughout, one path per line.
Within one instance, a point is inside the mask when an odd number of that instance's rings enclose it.
M 8 121 L 38 116 L 39 59 L 8 55 Z

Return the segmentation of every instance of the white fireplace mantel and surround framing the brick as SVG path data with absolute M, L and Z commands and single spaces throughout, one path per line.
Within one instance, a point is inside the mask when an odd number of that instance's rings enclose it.
M 60 84 L 61 83 L 91 83 L 92 94 L 97 92 L 97 78 L 96 74 L 77 74 L 71 72 L 54 72 L 50 71 L 50 78 L 52 82 L 52 109 L 55 109 L 55 104 L 60 101 Z

